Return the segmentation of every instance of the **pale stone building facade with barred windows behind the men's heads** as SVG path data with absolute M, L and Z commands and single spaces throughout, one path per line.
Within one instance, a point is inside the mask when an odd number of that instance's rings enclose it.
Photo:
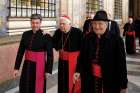
M 9 5 L 7 1 L 9 1 Z M 0 27 L 1 24 L 4 24 L 4 29 L 0 32 L 1 34 L 5 32 L 7 35 L 16 35 L 29 30 L 29 17 L 32 13 L 43 15 L 42 29 L 45 31 L 54 31 L 58 25 L 59 16 L 63 14 L 70 16 L 72 25 L 81 28 L 85 19 L 89 15 L 93 17 L 95 12 L 100 9 L 106 10 L 112 19 L 119 23 L 125 23 L 129 15 L 140 16 L 138 13 L 140 4 L 138 2 L 140 1 L 133 0 L 133 5 L 131 2 L 132 0 L 2 0 L 0 12 L 5 13 L 0 15 L 0 20 L 4 20 L 6 23 L 0 21 Z

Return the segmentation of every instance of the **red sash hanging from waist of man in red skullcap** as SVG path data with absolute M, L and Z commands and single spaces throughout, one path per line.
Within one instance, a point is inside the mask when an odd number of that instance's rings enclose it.
M 80 52 L 67 52 L 67 51 L 60 51 L 59 52 L 59 58 L 62 60 L 67 60 L 69 63 L 69 93 L 72 93 L 72 88 L 73 88 L 73 75 L 76 70 L 76 64 L 77 64 L 77 57 L 79 56 Z M 77 83 L 78 84 L 78 83 Z M 76 85 L 77 86 L 77 85 Z M 81 93 L 81 85 L 75 86 L 75 91 L 74 93 Z M 79 88 L 80 87 L 80 88 Z

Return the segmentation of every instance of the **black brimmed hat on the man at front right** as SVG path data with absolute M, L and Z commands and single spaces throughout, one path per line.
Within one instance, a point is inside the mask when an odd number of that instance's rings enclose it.
M 99 10 L 96 12 L 93 21 L 110 21 L 107 17 L 107 13 L 104 10 Z

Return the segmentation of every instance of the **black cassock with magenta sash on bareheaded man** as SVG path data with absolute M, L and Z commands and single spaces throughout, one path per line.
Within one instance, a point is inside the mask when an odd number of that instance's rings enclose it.
M 53 51 L 51 37 L 42 32 L 30 30 L 22 35 L 14 67 L 20 68 L 25 54 L 19 93 L 46 93 L 45 73 L 52 73 Z

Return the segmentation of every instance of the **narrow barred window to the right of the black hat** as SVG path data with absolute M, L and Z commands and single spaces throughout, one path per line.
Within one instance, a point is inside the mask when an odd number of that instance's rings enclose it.
M 114 19 L 122 18 L 122 0 L 115 0 Z

